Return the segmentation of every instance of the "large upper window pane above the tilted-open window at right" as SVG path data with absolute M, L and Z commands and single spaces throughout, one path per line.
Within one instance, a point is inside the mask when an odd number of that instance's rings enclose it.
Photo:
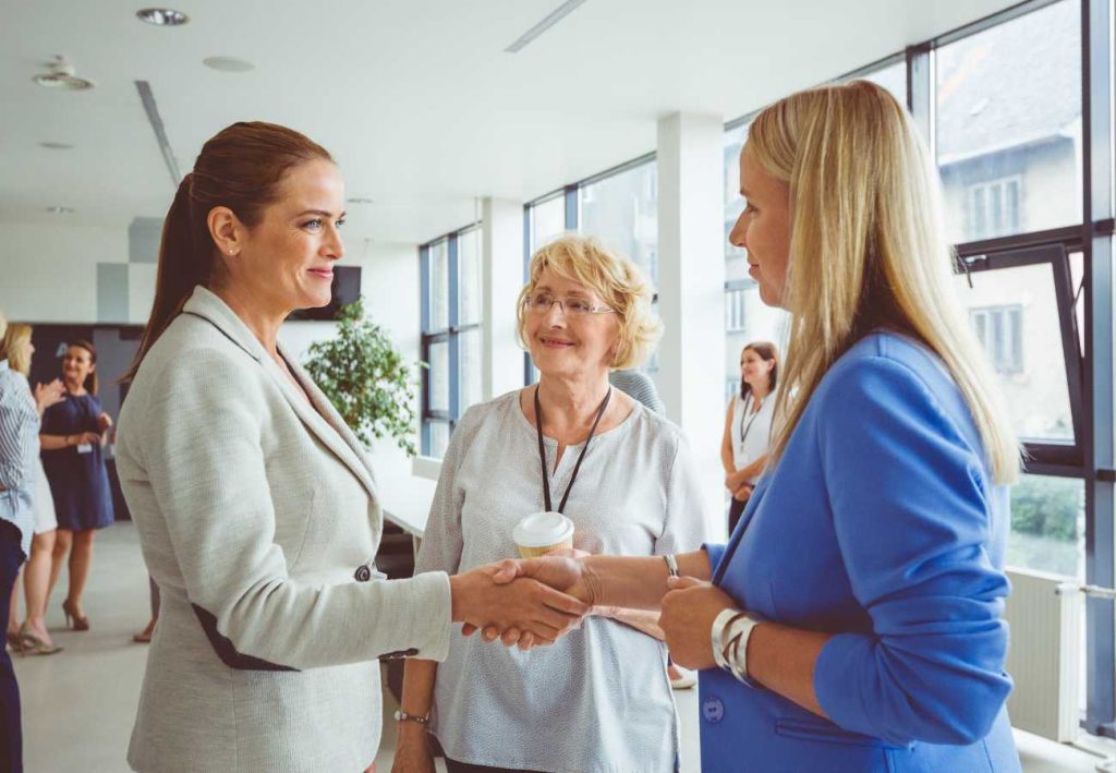
M 1081 220 L 1080 3 L 937 49 L 937 163 L 951 238 Z

